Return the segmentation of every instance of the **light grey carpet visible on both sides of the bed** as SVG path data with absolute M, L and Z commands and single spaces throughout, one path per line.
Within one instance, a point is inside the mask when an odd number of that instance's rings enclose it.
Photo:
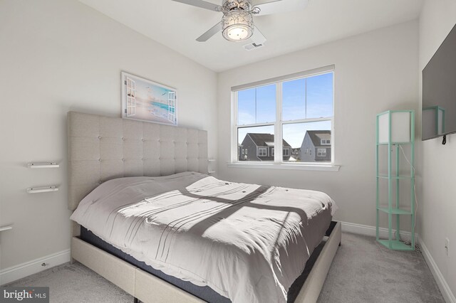
M 51 302 L 133 302 L 79 263 L 64 264 L 7 286 L 48 286 Z M 391 251 L 363 235 L 342 234 L 318 303 L 445 302 L 419 252 Z

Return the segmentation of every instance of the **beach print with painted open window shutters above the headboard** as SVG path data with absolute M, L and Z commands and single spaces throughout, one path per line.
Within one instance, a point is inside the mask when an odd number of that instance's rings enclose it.
M 122 117 L 177 125 L 176 90 L 122 72 Z

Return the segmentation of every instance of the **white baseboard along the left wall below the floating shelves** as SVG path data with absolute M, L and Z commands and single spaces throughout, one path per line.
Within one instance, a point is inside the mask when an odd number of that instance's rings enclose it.
M 36 274 L 47 270 L 48 268 L 61 265 L 70 261 L 70 250 L 62 250 L 61 252 L 53 253 L 52 255 L 46 255 L 35 260 L 24 262 L 22 264 L 5 268 L 0 270 L 0 285 L 5 285 L 9 282 L 14 282 L 23 277 Z M 45 263 L 46 266 L 42 266 Z M 26 285 L 33 286 L 33 285 Z

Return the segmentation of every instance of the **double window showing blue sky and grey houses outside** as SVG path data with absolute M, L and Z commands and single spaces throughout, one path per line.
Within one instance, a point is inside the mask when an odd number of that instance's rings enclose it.
M 333 161 L 333 66 L 239 85 L 232 92 L 233 143 L 254 144 L 263 157 L 271 149 L 267 159 L 247 161 Z M 324 159 L 310 157 L 311 149 L 322 145 L 328 147 L 316 154 Z

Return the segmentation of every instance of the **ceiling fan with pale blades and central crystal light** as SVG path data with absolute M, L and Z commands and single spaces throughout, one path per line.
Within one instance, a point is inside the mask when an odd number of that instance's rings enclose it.
M 254 15 L 264 16 L 304 9 L 309 0 L 223 0 L 222 6 L 203 0 L 172 1 L 223 13 L 222 21 L 199 36 L 197 38 L 199 42 L 207 41 L 219 31 L 222 31 L 225 39 L 234 42 L 245 41 L 255 32 L 257 34 L 253 44 L 261 45 L 266 38 L 254 25 Z

